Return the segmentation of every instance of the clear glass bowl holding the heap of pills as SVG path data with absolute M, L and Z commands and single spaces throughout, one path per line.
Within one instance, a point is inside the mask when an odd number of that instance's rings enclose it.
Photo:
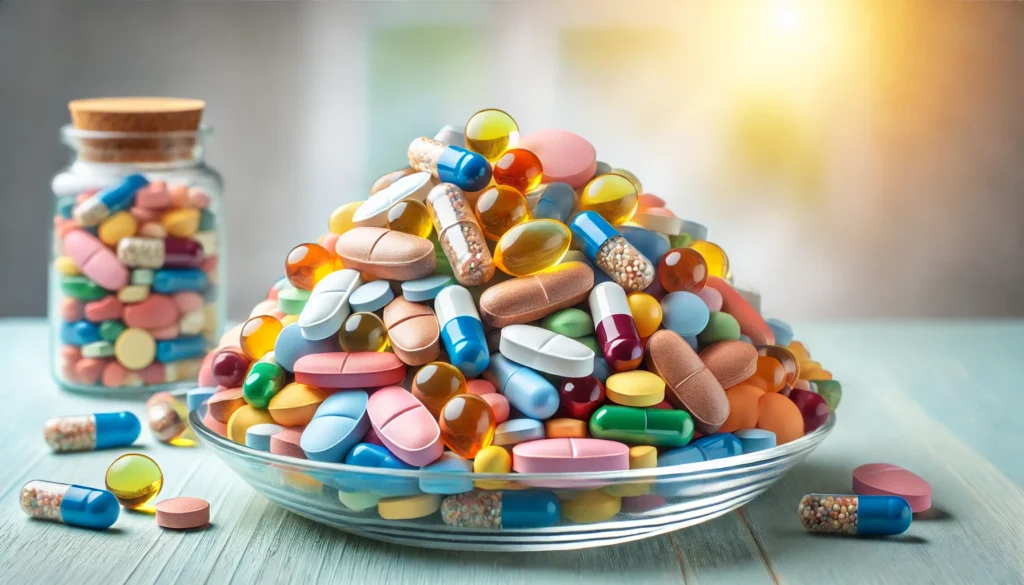
M 445 550 L 568 550 L 639 540 L 710 520 L 742 506 L 765 492 L 813 451 L 836 425 L 836 415 L 821 428 L 781 447 L 726 459 L 654 469 L 595 473 L 480 474 L 392 470 L 319 463 L 256 451 L 224 438 L 203 424 L 206 406 L 189 422 L 200 442 L 223 459 L 257 492 L 301 516 L 339 530 L 409 546 Z M 608 519 L 578 524 L 565 518 L 542 529 L 456 528 L 441 513 L 417 519 L 384 519 L 376 506 L 352 510 L 329 487 L 339 480 L 380 486 L 395 483 L 472 478 L 507 482 L 502 490 L 554 492 L 564 512 L 567 500 L 591 490 L 635 493 L 623 498 L 622 510 Z M 390 484 L 389 484 L 390 483 Z M 392 492 L 393 493 L 393 492 Z M 440 496 L 445 498 L 446 496 Z M 796 508 L 794 508 L 796 509 Z

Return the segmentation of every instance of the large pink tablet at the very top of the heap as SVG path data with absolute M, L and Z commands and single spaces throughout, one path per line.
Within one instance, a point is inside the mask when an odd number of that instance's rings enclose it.
M 594 145 L 568 130 L 548 128 L 530 132 L 519 139 L 519 148 L 541 159 L 544 182 L 567 182 L 572 189 L 580 189 L 597 171 Z

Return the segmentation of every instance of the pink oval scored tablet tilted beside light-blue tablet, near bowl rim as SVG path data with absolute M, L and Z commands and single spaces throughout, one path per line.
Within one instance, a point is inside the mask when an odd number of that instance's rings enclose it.
M 399 386 L 381 388 L 367 403 L 370 424 L 395 457 L 423 466 L 444 452 L 441 429 L 416 396 Z

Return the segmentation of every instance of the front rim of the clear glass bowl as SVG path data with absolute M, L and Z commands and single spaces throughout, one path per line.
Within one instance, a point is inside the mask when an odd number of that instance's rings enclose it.
M 408 477 L 417 479 L 473 479 L 473 480 L 504 480 L 514 484 L 525 483 L 546 483 L 548 485 L 566 484 L 566 489 L 572 489 L 573 485 L 582 488 L 588 480 L 600 480 L 602 483 L 623 483 L 630 484 L 636 482 L 651 482 L 655 479 L 693 479 L 701 472 L 727 472 L 741 469 L 750 465 L 769 462 L 774 459 L 796 455 L 807 448 L 813 448 L 824 441 L 825 436 L 831 432 L 836 426 L 836 413 L 830 413 L 828 419 L 814 431 L 791 441 L 785 445 L 726 457 L 713 461 L 702 461 L 698 463 L 684 463 L 681 465 L 670 465 L 667 467 L 653 467 L 648 469 L 624 469 L 616 471 L 588 471 L 573 473 L 478 473 L 475 471 L 428 471 L 419 469 L 387 469 L 380 467 L 360 467 L 357 465 L 346 465 L 344 463 L 328 463 L 323 461 L 311 461 L 309 459 L 298 459 L 287 455 L 276 455 L 265 451 L 259 451 L 240 445 L 225 436 L 221 436 L 210 430 L 203 423 L 206 405 L 188 413 L 188 422 L 201 443 L 208 444 L 217 450 L 226 451 L 239 458 L 253 460 L 261 464 L 272 464 L 275 466 L 288 466 L 300 471 L 313 471 L 319 473 L 330 472 L 350 472 L 362 475 L 379 475 L 382 477 Z M 538 485 L 537 488 L 543 486 Z

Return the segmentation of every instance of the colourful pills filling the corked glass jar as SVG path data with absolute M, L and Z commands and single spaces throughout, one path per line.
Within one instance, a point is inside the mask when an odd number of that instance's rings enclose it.
M 218 327 L 210 197 L 141 174 L 61 198 L 53 218 L 58 381 L 195 379 Z

